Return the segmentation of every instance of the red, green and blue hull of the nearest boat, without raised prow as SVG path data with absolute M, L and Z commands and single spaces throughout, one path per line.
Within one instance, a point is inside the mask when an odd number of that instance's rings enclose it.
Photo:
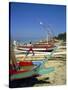
M 19 70 L 10 70 L 10 80 L 23 79 L 32 76 L 36 77 L 54 71 L 53 67 L 43 68 L 41 66 L 42 62 L 40 61 L 20 62 L 18 64 L 20 66 Z

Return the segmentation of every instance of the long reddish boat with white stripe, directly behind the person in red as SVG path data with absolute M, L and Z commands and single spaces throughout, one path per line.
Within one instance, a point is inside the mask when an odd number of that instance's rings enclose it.
M 17 50 L 27 51 L 30 47 L 28 45 L 19 45 L 17 46 Z M 51 52 L 53 51 L 53 44 L 33 44 L 32 48 L 36 52 Z

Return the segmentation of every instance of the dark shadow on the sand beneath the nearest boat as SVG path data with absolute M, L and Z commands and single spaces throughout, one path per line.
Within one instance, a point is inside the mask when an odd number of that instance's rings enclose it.
M 45 78 L 43 80 L 38 80 L 35 77 L 30 77 L 26 79 L 20 79 L 20 80 L 13 80 L 9 82 L 9 87 L 10 88 L 19 88 L 19 87 L 32 87 L 35 84 L 50 84 L 49 82 L 49 77 Z

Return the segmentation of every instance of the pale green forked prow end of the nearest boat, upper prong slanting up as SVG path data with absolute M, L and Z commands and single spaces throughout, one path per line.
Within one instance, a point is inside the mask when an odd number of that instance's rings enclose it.
M 52 71 L 55 71 L 55 68 L 54 67 L 45 67 L 45 63 L 48 61 L 48 59 L 50 59 L 52 57 L 52 55 L 54 54 L 54 52 L 57 50 L 58 46 L 61 44 L 61 42 L 56 45 L 56 47 L 54 47 L 53 51 L 51 52 L 50 55 L 47 56 L 47 58 L 45 57 L 44 60 L 42 60 L 42 63 L 39 64 L 39 66 L 37 67 L 36 69 L 36 72 L 38 74 L 48 74 Z

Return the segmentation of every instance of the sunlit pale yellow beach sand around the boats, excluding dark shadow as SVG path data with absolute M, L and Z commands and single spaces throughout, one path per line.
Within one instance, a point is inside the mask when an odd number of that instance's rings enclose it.
M 20 58 L 19 58 L 20 57 Z M 23 61 L 22 55 L 17 55 L 18 61 Z M 45 59 L 43 55 L 29 55 L 25 60 L 40 60 Z M 40 83 L 34 83 L 36 86 L 52 86 L 66 84 L 66 49 L 58 49 L 53 56 L 45 63 L 45 67 L 54 67 L 54 71 L 49 74 L 44 74 L 36 77 Z M 44 82 L 44 83 L 41 83 Z

